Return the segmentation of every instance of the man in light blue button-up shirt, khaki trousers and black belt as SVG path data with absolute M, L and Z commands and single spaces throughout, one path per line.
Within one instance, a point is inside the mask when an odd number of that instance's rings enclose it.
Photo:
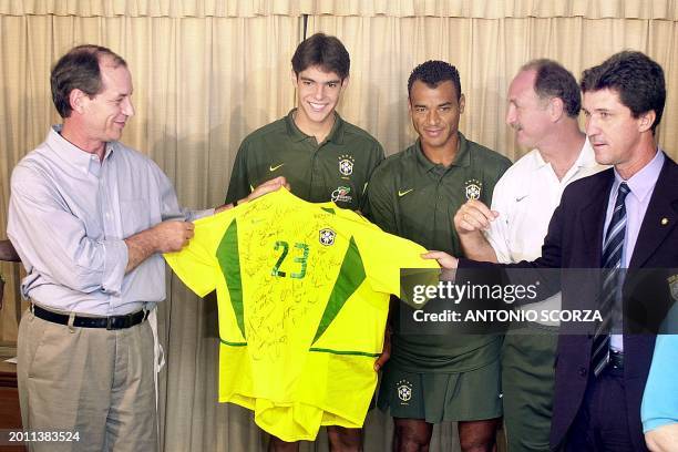
M 11 178 L 8 235 L 31 301 L 18 338 L 23 428 L 69 439 L 32 443 L 35 451 L 71 450 L 74 441 L 88 450 L 156 450 L 146 318 L 165 298 L 161 254 L 182 249 L 193 237 L 191 220 L 214 209 L 181 209 L 157 165 L 117 142 L 134 114 L 121 56 L 73 48 L 53 68 L 51 85 L 63 125 Z M 284 183 L 266 183 L 248 198 Z

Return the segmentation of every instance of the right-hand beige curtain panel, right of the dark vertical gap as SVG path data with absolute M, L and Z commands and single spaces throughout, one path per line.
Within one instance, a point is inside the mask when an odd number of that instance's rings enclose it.
M 319 16 L 309 33 L 338 35 L 351 53 L 351 80 L 340 111 L 396 153 L 414 138 L 407 104 L 407 82 L 414 66 L 445 60 L 461 75 L 466 109 L 460 129 L 512 160 L 521 150 L 504 124 L 506 92 L 513 75 L 531 59 L 562 62 L 579 79 L 582 71 L 624 49 L 641 50 L 666 71 L 668 99 L 659 142 L 678 156 L 676 127 L 678 33 L 675 21 L 583 18 L 396 18 Z

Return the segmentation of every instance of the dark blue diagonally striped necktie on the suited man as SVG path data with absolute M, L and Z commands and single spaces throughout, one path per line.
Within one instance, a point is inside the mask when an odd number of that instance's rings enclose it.
M 590 362 L 594 374 L 597 377 L 609 362 L 609 330 L 612 325 L 614 301 L 618 295 L 619 268 L 622 267 L 622 251 L 626 235 L 626 195 L 630 188 L 623 182 L 617 192 L 617 201 L 613 210 L 605 243 L 603 244 L 603 291 L 600 295 L 600 312 L 603 321 L 598 325 L 593 341 Z

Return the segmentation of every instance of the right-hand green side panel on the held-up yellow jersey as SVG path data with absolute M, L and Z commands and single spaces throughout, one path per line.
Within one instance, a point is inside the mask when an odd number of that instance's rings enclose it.
M 327 301 L 325 312 L 322 312 L 322 318 L 320 319 L 320 323 L 318 325 L 316 336 L 311 343 L 315 343 L 322 336 L 346 301 L 353 295 L 358 287 L 360 287 L 364 278 L 366 274 L 364 267 L 362 266 L 362 258 L 360 257 L 356 240 L 351 237 L 346 255 L 343 256 L 343 261 L 341 263 L 341 269 L 337 276 L 337 281 Z

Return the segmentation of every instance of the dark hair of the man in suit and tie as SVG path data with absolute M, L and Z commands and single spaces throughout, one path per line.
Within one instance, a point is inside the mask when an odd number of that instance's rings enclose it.
M 599 90 L 617 92 L 634 117 L 654 110 L 657 117 L 651 130 L 655 132 L 664 113 L 666 82 L 664 70 L 649 56 L 626 50 L 585 70 L 582 74 L 582 91 L 586 93 Z

